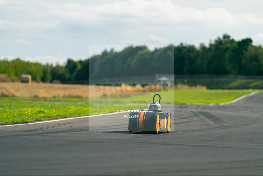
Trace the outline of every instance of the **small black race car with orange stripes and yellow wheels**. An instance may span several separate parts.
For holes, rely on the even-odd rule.
[[[156,95],[160,97],[159,102],[154,101]],[[132,131],[154,131],[156,134],[160,131],[170,132],[171,113],[166,112],[164,114],[162,112],[161,96],[159,94],[155,94],[154,97],[147,110],[140,109],[129,113],[128,130],[130,133]]]

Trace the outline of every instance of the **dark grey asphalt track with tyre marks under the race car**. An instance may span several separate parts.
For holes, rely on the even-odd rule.
[[[1,126],[0,175],[263,175],[262,93],[162,107],[173,132],[130,134],[128,113]]]

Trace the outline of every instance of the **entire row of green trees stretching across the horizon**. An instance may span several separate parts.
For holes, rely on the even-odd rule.
[[[107,77],[154,75],[155,73],[263,75],[263,48],[251,38],[234,40],[228,34],[199,47],[168,45],[149,50],[147,46],[128,46],[117,52],[104,50],[85,60],[68,58],[65,64],[41,64],[16,58],[0,60],[0,73],[20,78],[31,75],[34,81],[50,82]]]

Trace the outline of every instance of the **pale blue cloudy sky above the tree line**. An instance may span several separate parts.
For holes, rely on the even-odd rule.
[[[129,45],[263,45],[262,0],[0,0],[0,59],[64,64]]]

